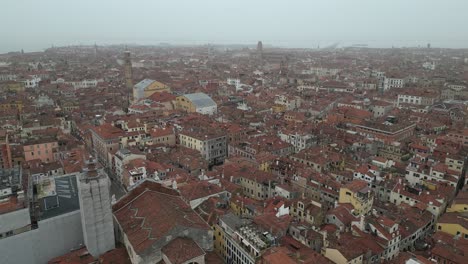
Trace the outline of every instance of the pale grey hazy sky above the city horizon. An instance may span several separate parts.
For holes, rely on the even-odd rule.
[[[54,45],[468,47],[468,0],[1,0],[0,52]]]

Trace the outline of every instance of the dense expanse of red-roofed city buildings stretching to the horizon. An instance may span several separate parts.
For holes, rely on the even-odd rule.
[[[467,50],[0,55],[0,253],[47,225],[69,248],[38,263],[466,263],[467,85]],[[90,156],[101,256],[57,220],[90,206]]]

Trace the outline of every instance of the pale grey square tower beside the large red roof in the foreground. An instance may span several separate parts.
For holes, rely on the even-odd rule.
[[[110,182],[98,169],[95,160],[86,161],[86,168],[79,177],[81,222],[85,245],[91,255],[114,249],[114,225],[110,201]]]

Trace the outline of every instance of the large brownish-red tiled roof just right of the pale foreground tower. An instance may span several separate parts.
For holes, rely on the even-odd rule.
[[[133,189],[112,209],[137,253],[151,247],[177,226],[210,229],[177,191],[151,181]]]

